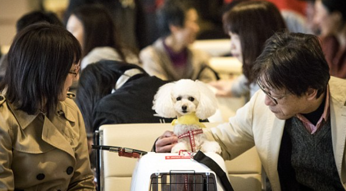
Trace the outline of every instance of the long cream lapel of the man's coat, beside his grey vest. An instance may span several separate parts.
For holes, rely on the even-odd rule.
[[[266,127],[270,130],[270,139],[268,139],[267,166],[270,182],[273,190],[280,190],[279,175],[277,172],[277,163],[281,145],[281,138],[285,127],[285,120],[280,120],[274,114],[268,115]],[[275,184],[278,183],[278,184]]]

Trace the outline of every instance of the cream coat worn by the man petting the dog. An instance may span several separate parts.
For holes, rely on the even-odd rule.
[[[329,81],[330,120],[334,158],[340,181],[346,190],[346,80]],[[280,191],[277,163],[285,120],[280,120],[264,104],[265,94],[257,92],[229,123],[211,131],[207,137],[220,143],[222,157],[232,159],[256,146],[273,191]]]

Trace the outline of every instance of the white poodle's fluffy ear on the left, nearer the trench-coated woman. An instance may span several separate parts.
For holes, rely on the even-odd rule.
[[[153,109],[161,117],[174,118],[176,113],[174,110],[174,102],[172,97],[172,90],[175,86],[174,82],[161,86],[154,96]]]

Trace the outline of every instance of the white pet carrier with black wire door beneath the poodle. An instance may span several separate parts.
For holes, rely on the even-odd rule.
[[[206,153],[223,172],[223,159]],[[225,175],[226,176],[226,175]],[[227,177],[227,176],[226,176]],[[228,178],[226,178],[228,182]],[[133,171],[130,191],[226,191],[210,167],[192,159],[189,153],[154,153],[142,156]]]

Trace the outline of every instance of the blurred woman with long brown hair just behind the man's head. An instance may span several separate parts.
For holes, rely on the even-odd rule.
[[[231,38],[231,54],[243,63],[243,74],[234,80],[221,80],[211,85],[219,96],[253,96],[259,90],[254,62],[264,42],[276,31],[286,29],[277,7],[267,1],[245,1],[223,15],[223,26]]]

